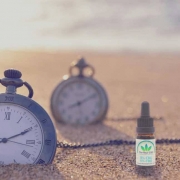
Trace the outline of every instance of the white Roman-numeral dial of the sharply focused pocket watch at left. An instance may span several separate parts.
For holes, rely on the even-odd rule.
[[[0,164],[33,164],[44,136],[37,118],[26,108],[0,103]]]

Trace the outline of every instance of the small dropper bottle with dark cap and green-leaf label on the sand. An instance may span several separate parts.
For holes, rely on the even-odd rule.
[[[156,164],[156,142],[148,102],[141,104],[141,117],[137,119],[136,132],[136,165],[154,166]]]

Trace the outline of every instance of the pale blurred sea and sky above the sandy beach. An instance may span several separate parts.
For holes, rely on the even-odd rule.
[[[180,0],[0,0],[0,49],[180,50]]]

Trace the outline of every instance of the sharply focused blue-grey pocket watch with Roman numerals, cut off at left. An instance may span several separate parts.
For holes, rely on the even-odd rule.
[[[23,82],[21,72],[9,69],[0,80],[6,93],[0,94],[0,165],[47,164],[56,152],[56,133],[46,111],[31,98],[33,89]],[[29,96],[16,94],[25,85]]]

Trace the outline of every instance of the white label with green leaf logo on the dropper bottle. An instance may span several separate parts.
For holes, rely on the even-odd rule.
[[[136,139],[136,165],[154,166],[156,164],[155,139]]]

